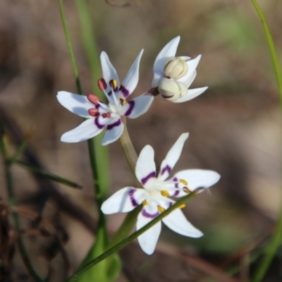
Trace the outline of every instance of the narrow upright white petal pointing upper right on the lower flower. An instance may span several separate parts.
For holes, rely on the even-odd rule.
[[[171,149],[168,151],[168,154],[166,154],[166,158],[161,163],[158,180],[165,180],[166,178],[168,178],[169,173],[171,172],[171,170],[176,164],[176,161],[178,161],[180,157],[184,142],[185,140],[187,140],[188,135],[189,133],[181,134],[176,143],[173,145],[173,147],[171,147]]]

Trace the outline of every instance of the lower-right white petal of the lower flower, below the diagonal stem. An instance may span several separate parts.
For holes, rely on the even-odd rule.
[[[202,237],[203,233],[192,226],[192,224],[185,218],[183,212],[180,209],[175,209],[173,212],[168,214],[163,220],[164,224],[171,228],[176,233],[184,236],[199,238]]]

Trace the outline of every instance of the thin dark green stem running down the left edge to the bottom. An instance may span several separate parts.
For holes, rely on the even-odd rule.
[[[1,123],[1,121],[0,121]],[[11,161],[8,159],[8,155],[6,152],[6,146],[4,143],[4,128],[3,125],[0,124],[0,152],[4,159],[4,169],[5,169],[5,176],[6,176],[6,185],[8,190],[8,202],[10,207],[14,207],[16,205],[16,197],[15,193],[13,192],[13,177],[11,173]],[[18,219],[18,214],[16,212],[12,212],[13,218],[13,227],[15,228],[16,232],[20,232],[20,222]],[[30,258],[28,257],[27,250],[25,249],[25,244],[23,242],[23,238],[18,235],[17,238],[18,249],[20,250],[20,255],[23,259],[25,267],[27,271],[30,273],[32,279],[36,282],[43,282],[44,280],[37,274],[37,271],[32,266]]]

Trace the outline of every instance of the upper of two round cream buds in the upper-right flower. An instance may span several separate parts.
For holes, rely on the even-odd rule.
[[[167,78],[178,80],[188,73],[188,64],[180,57],[169,59],[164,66],[164,75]]]

